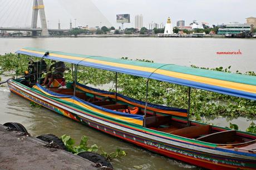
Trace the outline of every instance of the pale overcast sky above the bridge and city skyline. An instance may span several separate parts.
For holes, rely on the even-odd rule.
[[[135,14],[142,14],[144,26],[149,22],[166,22],[171,17],[173,26],[183,19],[185,25],[194,19],[209,24],[229,22],[245,23],[245,18],[256,17],[255,0],[44,0],[47,21],[57,28],[68,28],[70,19],[75,26],[114,26],[116,14],[131,14],[134,27]],[[32,0],[0,0],[0,27],[30,26]],[[18,7],[17,7],[18,6]],[[21,10],[22,9],[22,10]]]

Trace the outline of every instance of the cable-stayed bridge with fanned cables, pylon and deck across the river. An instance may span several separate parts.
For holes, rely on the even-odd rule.
[[[47,2],[47,0],[45,1]],[[70,18],[71,17],[77,18],[79,16],[82,17],[83,15],[87,16],[88,17],[86,18],[87,21],[83,21],[83,23],[85,23],[86,25],[90,25],[91,27],[100,26],[101,23],[106,24],[106,26],[107,24],[111,26],[109,21],[107,21],[106,17],[104,17],[104,15],[99,11],[99,9],[97,9],[96,6],[94,6],[94,4],[90,0],[76,0],[76,1],[77,1],[76,3],[74,3],[73,0],[48,1],[48,7],[51,6],[51,8],[53,8],[58,5],[58,9],[63,8],[62,11],[58,11],[53,14],[52,14],[53,10],[51,11],[49,10],[48,13],[51,13],[51,14],[49,14],[50,17],[48,16],[48,19],[55,17],[55,20],[56,20],[56,16],[60,17],[62,14],[63,15],[65,14],[66,16],[68,16],[67,13],[71,13],[68,16]],[[81,2],[78,2],[78,1],[81,1]],[[86,3],[86,10],[82,9],[81,7],[78,7],[78,6],[82,6],[81,4],[82,2]],[[43,0],[0,0],[0,4],[1,4],[0,31],[27,31],[27,32],[32,32],[32,36],[37,36],[38,33],[41,36],[49,36],[49,32],[66,32],[72,29],[71,21],[69,23],[70,26],[68,29],[61,29],[60,21],[58,23],[58,29],[54,29],[54,28],[50,29],[49,21],[46,19],[45,5]],[[31,13],[31,8],[32,8],[32,19],[30,20],[31,26],[28,26],[28,24],[26,24],[25,26],[21,27],[20,22],[23,21],[24,19],[26,19],[25,23],[29,22],[27,21],[27,18],[29,18],[29,14]],[[78,10],[76,10],[76,8]],[[74,11],[79,11],[80,13],[73,14]],[[92,15],[89,16],[88,13],[86,12]],[[40,20],[38,18],[40,18]],[[97,18],[99,21],[96,21]],[[76,20],[77,19],[75,19],[75,22]],[[80,19],[80,21],[81,20],[82,19]],[[10,24],[12,24],[12,26],[9,26]]]

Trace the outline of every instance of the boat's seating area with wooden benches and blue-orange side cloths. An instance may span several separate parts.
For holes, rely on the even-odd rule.
[[[184,121],[186,119],[186,109],[165,107],[149,103],[146,117],[144,118],[145,102],[137,101],[136,99],[121,94],[116,94],[117,101],[115,101],[115,93],[87,87],[79,83],[77,84],[75,98],[72,96],[73,88],[71,84],[68,88],[46,89],[39,84],[33,88],[40,89],[41,92],[50,96],[73,98],[76,101],[92,106],[95,109],[105,111],[102,112],[102,114],[112,113],[111,116],[113,118],[139,124],[163,133],[192,138],[203,142],[216,143],[219,144],[219,146],[230,148],[248,146],[249,144],[256,143],[255,138],[243,137],[235,130],[219,130],[211,125],[199,123],[191,123],[188,127],[187,122]],[[138,107],[138,111],[136,114],[131,114],[134,107]],[[179,113],[181,116],[178,116]],[[175,117],[177,116],[183,118],[181,119],[183,121],[176,119]]]

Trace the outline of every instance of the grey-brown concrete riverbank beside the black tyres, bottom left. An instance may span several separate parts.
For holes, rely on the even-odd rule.
[[[1,124],[0,136],[1,169],[99,169],[87,159],[46,147],[40,139],[7,131]]]

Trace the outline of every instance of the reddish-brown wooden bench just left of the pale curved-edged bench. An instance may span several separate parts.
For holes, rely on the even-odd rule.
[[[210,125],[201,124],[197,126],[185,127],[182,129],[178,129],[176,131],[170,132],[171,134],[175,134],[177,136],[182,136],[186,138],[195,138],[204,134],[210,133]]]

